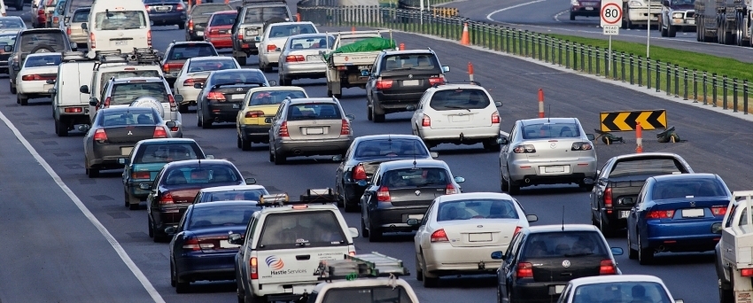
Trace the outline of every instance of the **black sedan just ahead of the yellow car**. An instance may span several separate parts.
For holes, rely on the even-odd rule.
[[[272,85],[276,84],[272,81]],[[267,77],[258,69],[213,71],[206,82],[194,84],[194,88],[201,89],[196,98],[197,126],[211,128],[214,122],[235,123],[248,89],[269,85]]]

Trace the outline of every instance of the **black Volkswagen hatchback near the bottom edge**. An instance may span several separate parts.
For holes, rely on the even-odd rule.
[[[572,279],[622,274],[607,239],[592,225],[545,225],[521,229],[497,269],[497,302],[555,302]]]

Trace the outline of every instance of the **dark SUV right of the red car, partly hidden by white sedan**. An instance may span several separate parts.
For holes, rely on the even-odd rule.
[[[269,23],[291,20],[291,11],[284,0],[244,0],[233,24],[233,57],[245,66],[248,56],[259,54],[264,28]]]

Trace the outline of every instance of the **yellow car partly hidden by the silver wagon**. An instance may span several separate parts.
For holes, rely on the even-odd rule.
[[[236,118],[238,148],[251,151],[251,144],[268,144],[271,120],[287,97],[308,97],[298,86],[259,87],[249,90]]]

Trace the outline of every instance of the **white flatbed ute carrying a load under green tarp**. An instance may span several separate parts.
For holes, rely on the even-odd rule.
[[[327,62],[327,96],[341,97],[343,89],[366,89],[368,73],[383,50],[394,49],[392,39],[384,39],[377,30],[335,34],[334,50],[322,56]],[[345,48],[343,48],[345,47]]]

